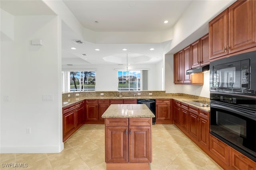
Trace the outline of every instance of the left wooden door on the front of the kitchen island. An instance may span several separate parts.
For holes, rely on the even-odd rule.
[[[105,127],[106,163],[128,163],[128,127]]]

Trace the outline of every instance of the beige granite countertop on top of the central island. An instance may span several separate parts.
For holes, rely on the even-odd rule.
[[[112,104],[102,118],[155,117],[146,104]]]

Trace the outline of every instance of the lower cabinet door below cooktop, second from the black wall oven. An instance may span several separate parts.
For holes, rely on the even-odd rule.
[[[189,127],[188,127],[188,133],[194,137],[195,139],[199,138],[198,135],[198,115],[196,113],[189,111]]]

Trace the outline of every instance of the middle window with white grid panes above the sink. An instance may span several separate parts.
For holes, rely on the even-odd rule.
[[[140,71],[118,71],[118,89],[140,91]]]

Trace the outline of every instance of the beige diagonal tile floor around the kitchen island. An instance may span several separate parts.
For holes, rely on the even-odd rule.
[[[174,125],[152,125],[151,170],[222,170]],[[0,154],[2,163],[27,163],[16,170],[105,170],[104,125],[83,125],[60,153]]]

